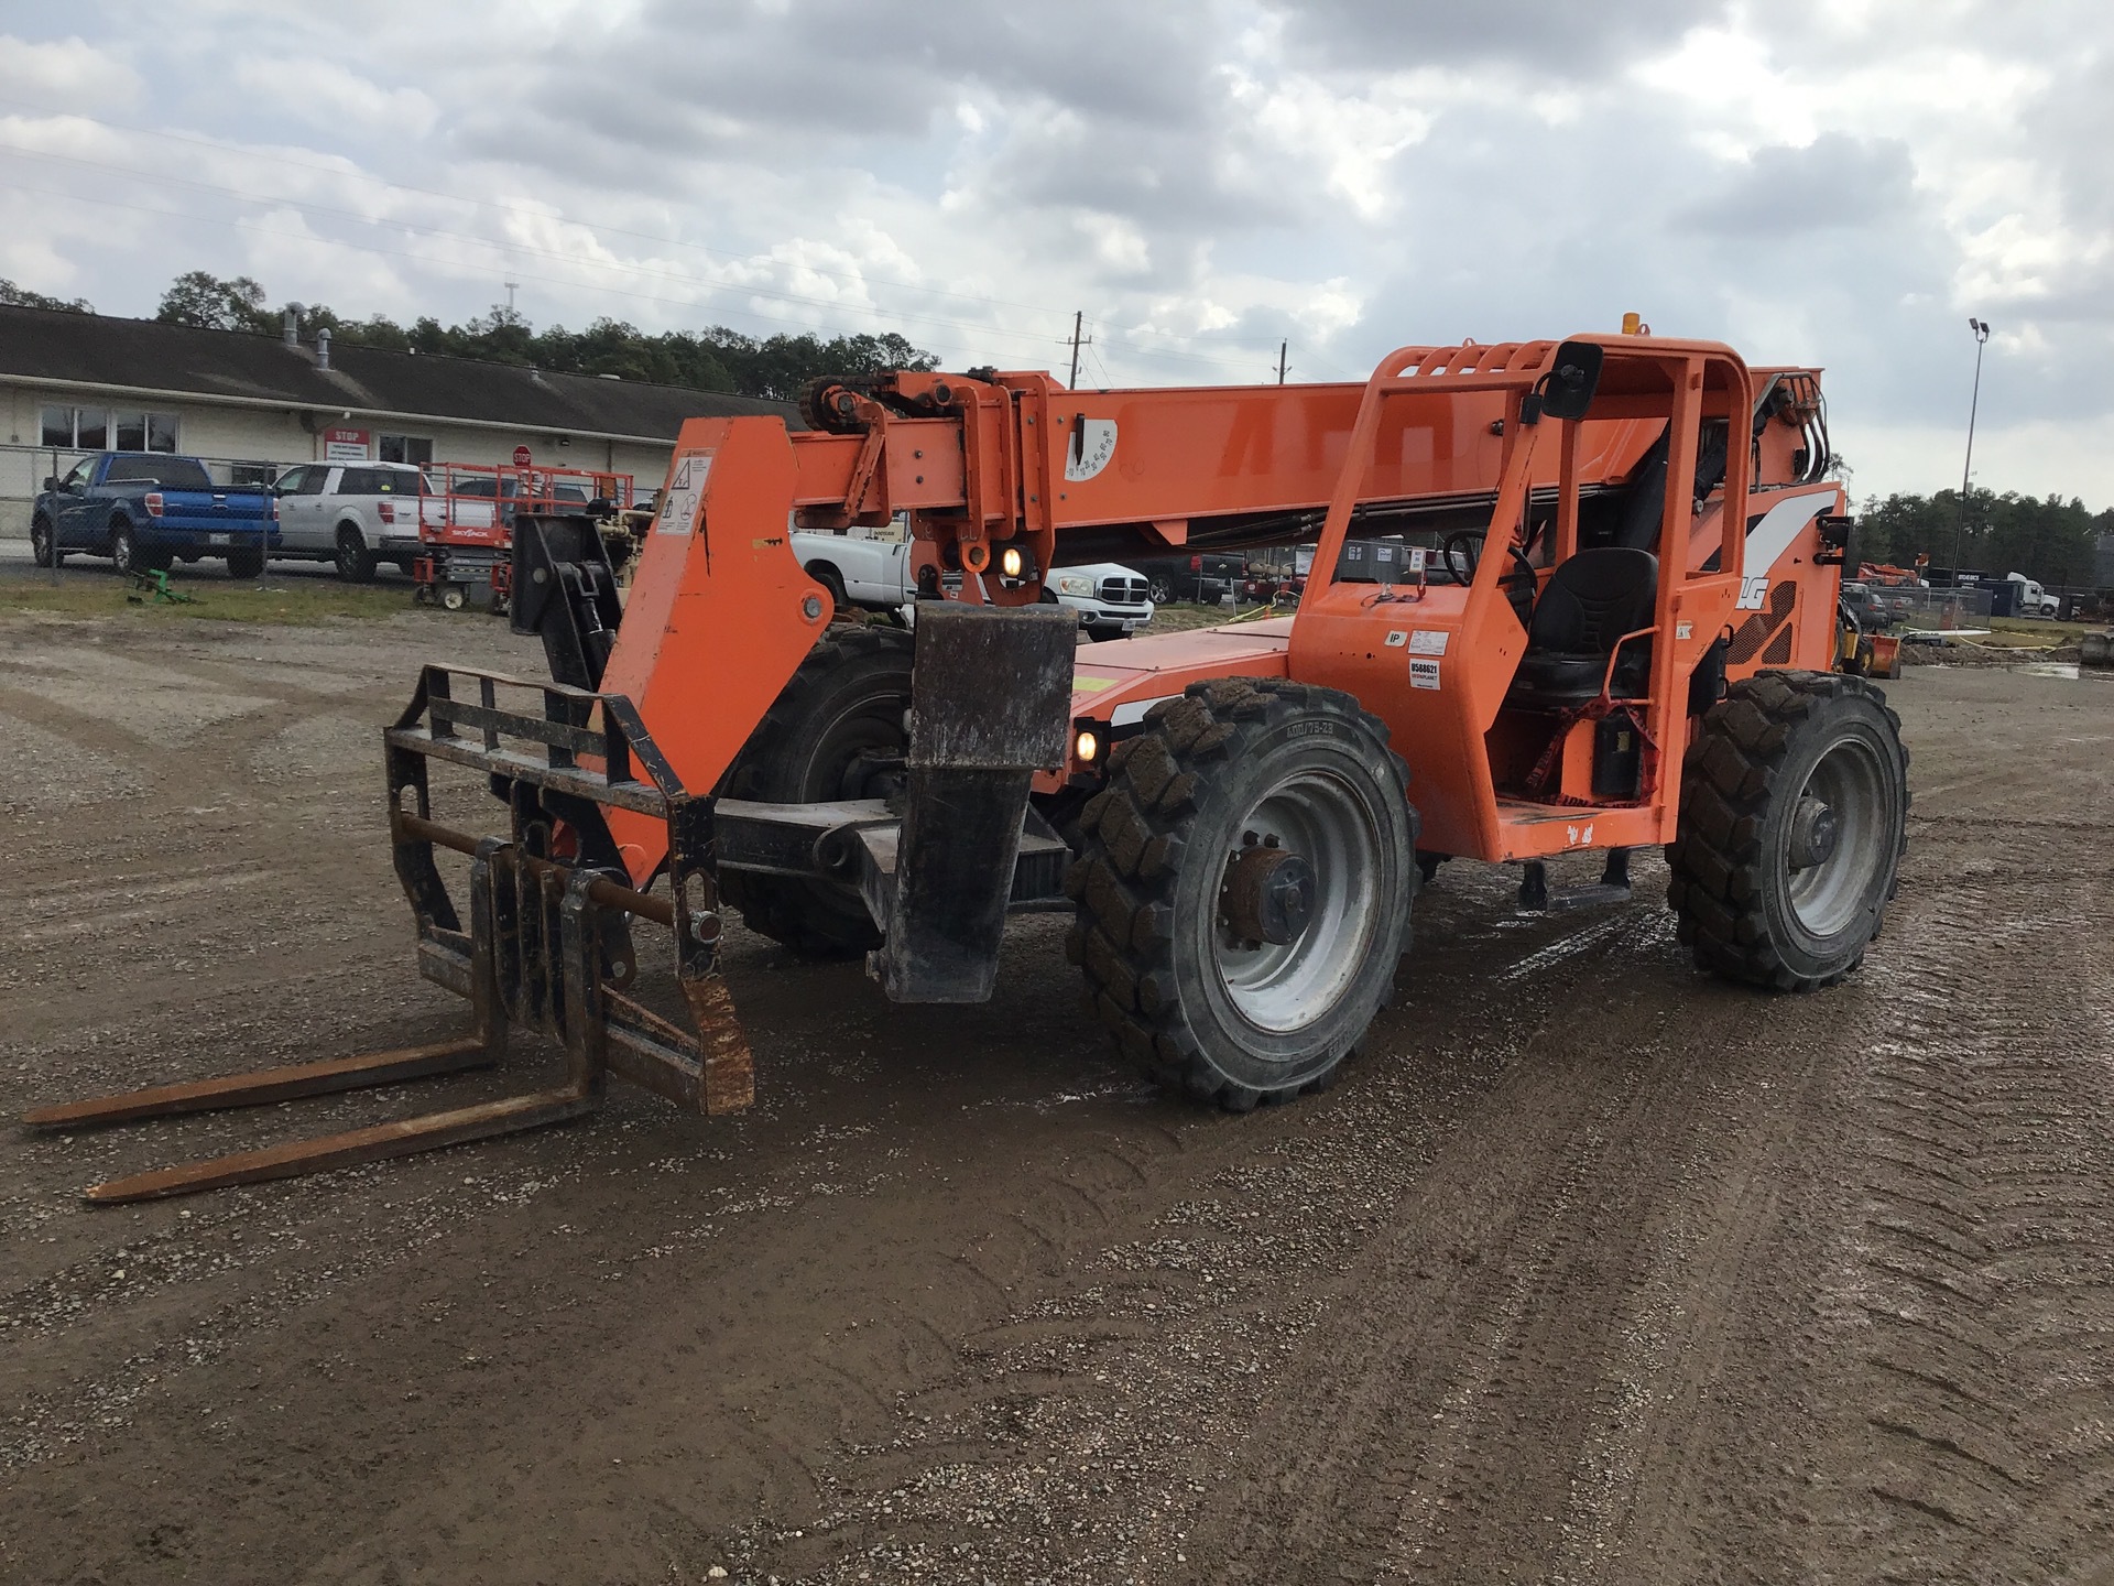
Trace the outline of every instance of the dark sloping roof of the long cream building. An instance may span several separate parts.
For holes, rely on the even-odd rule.
[[[782,402],[681,385],[548,374],[345,340],[332,345],[326,370],[317,368],[313,343],[288,347],[281,336],[0,305],[0,381],[6,379],[634,440],[674,440],[685,419],[793,414]]]

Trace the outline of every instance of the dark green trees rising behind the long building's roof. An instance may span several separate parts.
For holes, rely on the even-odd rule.
[[[68,307],[42,302],[36,307]],[[85,307],[85,305],[82,305]],[[268,307],[264,288],[247,275],[220,279],[186,271],[169,283],[154,317],[165,326],[279,334],[285,307]],[[892,368],[930,370],[939,359],[896,334],[886,336],[744,336],[727,326],[649,334],[622,319],[596,319],[586,330],[535,330],[507,305],[459,326],[421,315],[400,326],[385,315],[351,319],[328,305],[304,305],[300,330],[330,330],[334,345],[381,347],[395,353],[444,353],[522,364],[552,374],[617,374],[626,381],[683,385],[693,391],[791,402],[818,374],[877,374]]]

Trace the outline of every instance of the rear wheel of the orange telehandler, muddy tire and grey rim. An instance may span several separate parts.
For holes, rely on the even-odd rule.
[[[1666,850],[1681,941],[1725,979],[1835,985],[1879,935],[1907,816],[1909,751],[1886,694],[1835,672],[1733,683],[1681,768]]]

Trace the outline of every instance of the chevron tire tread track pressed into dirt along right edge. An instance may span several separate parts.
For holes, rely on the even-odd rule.
[[[2061,863],[2055,844],[2013,829],[1879,973],[1896,1015],[1869,1047],[1848,1277],[1871,1377],[1843,1434],[1871,1578],[2078,1580],[2114,1535],[2114,911],[2084,875],[2059,909],[2004,914],[2013,861]]]

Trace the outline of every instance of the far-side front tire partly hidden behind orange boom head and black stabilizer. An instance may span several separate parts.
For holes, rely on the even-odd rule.
[[[873,755],[901,755],[909,736],[911,637],[896,628],[831,628],[748,734],[721,791],[729,799],[816,804],[886,797]],[[721,871],[721,897],[757,935],[808,958],[848,958],[882,945],[852,886],[799,875]]]

